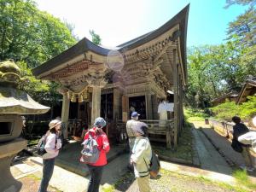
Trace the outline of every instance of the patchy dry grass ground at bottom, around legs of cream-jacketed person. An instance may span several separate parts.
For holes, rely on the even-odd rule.
[[[239,184],[237,186],[232,186],[229,183],[216,182],[208,179],[207,177],[195,177],[180,174],[178,172],[170,172],[166,169],[160,170],[161,177],[157,180],[150,179],[151,190],[166,191],[197,191],[197,189],[226,189],[234,192],[249,192],[253,191],[252,189],[244,189],[243,185]],[[242,176],[243,177],[243,176]],[[103,189],[104,192],[113,192],[113,191],[125,191],[131,186],[131,183],[134,182],[134,176],[131,172],[126,172],[125,175],[119,178],[119,180],[111,185],[108,189]],[[186,184],[188,185],[186,185]],[[190,187],[189,187],[190,186]],[[169,191],[168,190],[168,191]]]

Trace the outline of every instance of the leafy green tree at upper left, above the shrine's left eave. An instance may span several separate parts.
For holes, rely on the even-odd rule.
[[[0,60],[26,61],[37,67],[73,45],[67,26],[32,0],[0,0]]]

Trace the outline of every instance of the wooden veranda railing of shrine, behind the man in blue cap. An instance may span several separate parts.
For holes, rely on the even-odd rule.
[[[166,120],[166,126],[160,126],[160,120],[148,120],[148,119],[140,119],[140,121],[146,123],[148,125],[148,133],[150,134],[149,140],[165,142],[166,148],[171,148],[173,143],[173,130],[174,123],[173,119]],[[126,135],[126,125],[122,121],[118,121],[117,127],[120,130],[121,134]],[[156,137],[157,135],[165,136],[166,138]]]

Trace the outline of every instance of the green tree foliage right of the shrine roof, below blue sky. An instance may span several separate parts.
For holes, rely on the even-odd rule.
[[[245,80],[256,75],[254,52],[253,47],[241,46],[239,40],[190,49],[187,103],[206,108],[213,98],[240,91]]]

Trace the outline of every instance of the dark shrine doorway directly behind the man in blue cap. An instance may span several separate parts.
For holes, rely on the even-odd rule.
[[[140,114],[139,119],[147,119],[145,96],[129,97],[129,108],[130,108],[130,112],[129,112],[130,119],[131,119],[131,113],[133,108],[135,109],[135,111],[137,111],[137,113]]]

